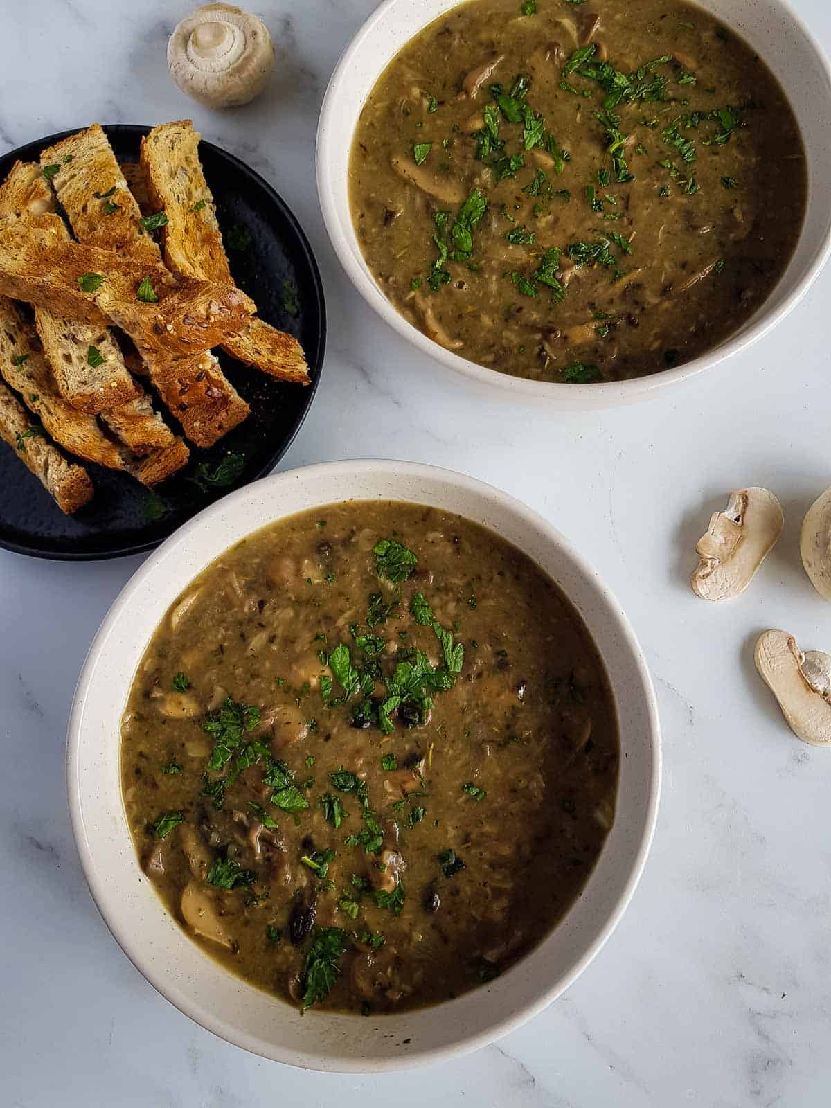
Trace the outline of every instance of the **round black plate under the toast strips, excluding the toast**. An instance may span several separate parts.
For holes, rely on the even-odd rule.
[[[150,127],[104,127],[120,162],[138,161]],[[0,181],[12,164],[37,162],[40,151],[71,131],[40,138],[0,157]],[[95,495],[65,516],[40,481],[0,441],[0,546],[37,557],[89,560],[151,550],[185,520],[230,489],[267,472],[288,450],[315,396],[324,360],[326,310],[320,274],[306,236],[267,182],[225,151],[203,142],[199,155],[228,245],[234,280],[257,302],[266,322],[290,331],[302,345],[311,384],[287,384],[219,351],[223,370],[252,413],[209,450],[191,445],[186,469],[148,492],[125,473],[89,462]],[[234,248],[236,245],[236,248]],[[155,406],[166,416],[164,406]],[[171,425],[181,432],[172,418]],[[228,452],[242,454],[242,471],[227,484],[211,484]],[[219,476],[223,474],[220,473]]]

